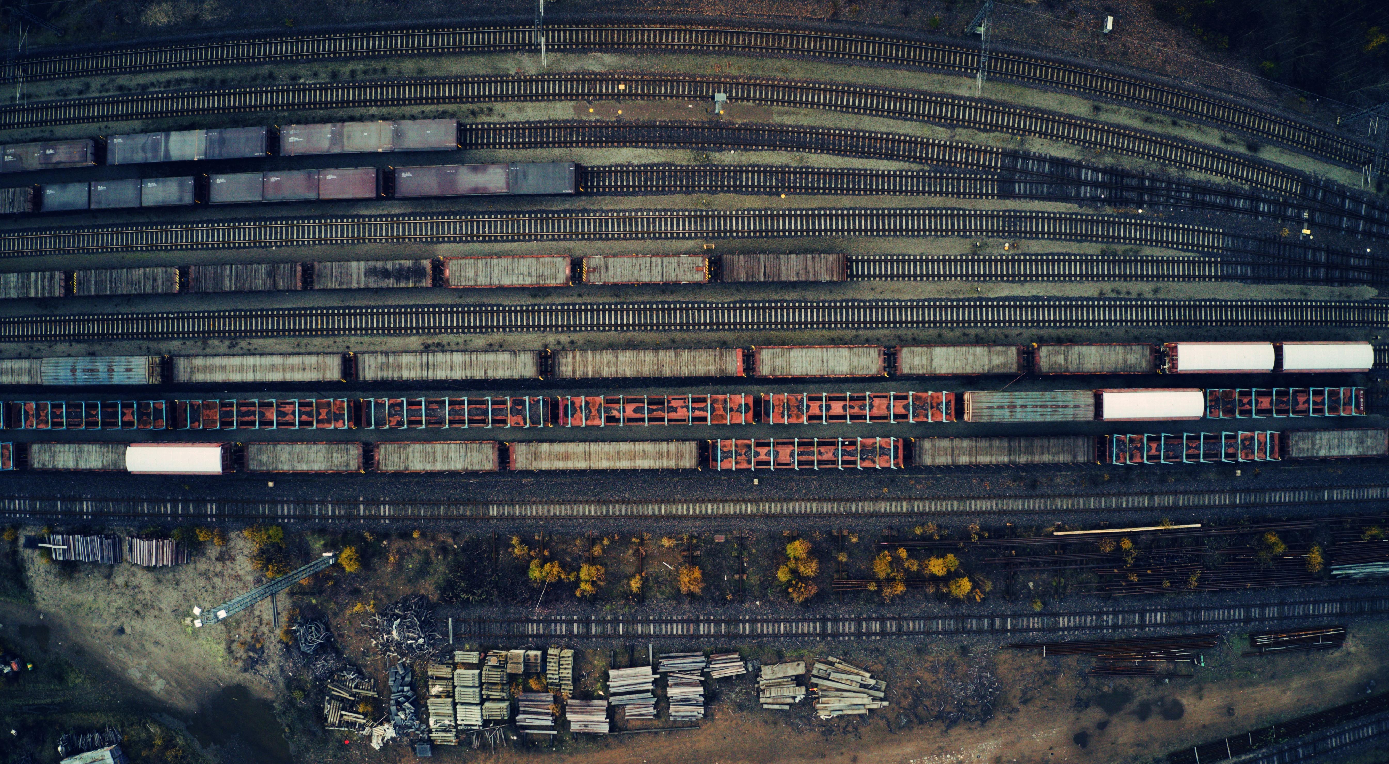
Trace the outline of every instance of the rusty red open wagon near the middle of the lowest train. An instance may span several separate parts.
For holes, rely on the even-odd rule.
[[[779,438],[710,440],[708,465],[725,470],[897,470],[900,438]]]

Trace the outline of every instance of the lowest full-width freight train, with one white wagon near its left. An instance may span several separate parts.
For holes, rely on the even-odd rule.
[[[908,458],[910,453],[910,458]],[[901,470],[1024,464],[1213,464],[1389,456],[1389,429],[1020,438],[768,438],[633,442],[0,443],[0,471],[526,472]]]

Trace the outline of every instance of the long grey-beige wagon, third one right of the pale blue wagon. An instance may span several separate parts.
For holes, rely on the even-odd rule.
[[[743,350],[557,350],[554,375],[560,379],[743,376]]]

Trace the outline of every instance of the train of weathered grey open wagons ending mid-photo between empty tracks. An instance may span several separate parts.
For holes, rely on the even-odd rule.
[[[781,279],[839,282],[847,279],[846,261],[843,254],[729,254],[718,260],[692,254],[600,254],[576,260],[567,254],[540,254],[21,271],[0,274],[0,299],[574,283],[746,283],[758,274],[772,274]],[[788,267],[754,269],[747,267],[749,263]]]

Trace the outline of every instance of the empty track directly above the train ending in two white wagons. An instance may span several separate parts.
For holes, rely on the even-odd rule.
[[[768,300],[294,307],[0,318],[0,342],[928,328],[1389,328],[1350,300]]]

